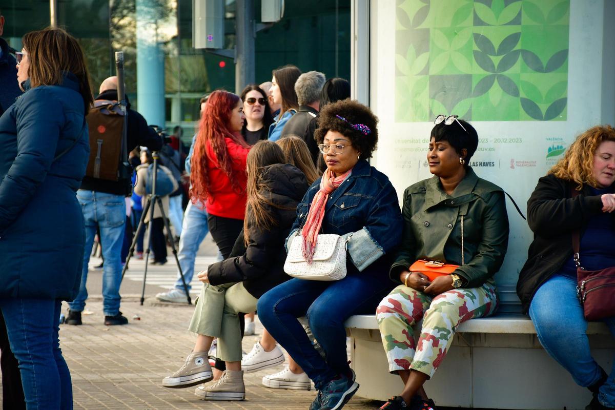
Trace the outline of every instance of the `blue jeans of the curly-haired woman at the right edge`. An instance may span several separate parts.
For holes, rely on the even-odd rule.
[[[544,350],[571,374],[576,384],[589,387],[600,380],[602,372],[589,349],[587,321],[576,297],[576,286],[576,277],[550,277],[534,294],[530,317]],[[615,336],[615,317],[605,323]],[[600,403],[611,408],[615,407],[615,361],[613,365],[598,394]]]

